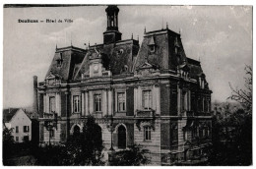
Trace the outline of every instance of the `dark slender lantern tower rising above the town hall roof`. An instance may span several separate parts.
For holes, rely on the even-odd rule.
[[[121,40],[122,33],[118,30],[118,12],[116,5],[109,5],[106,9],[107,28],[103,32],[104,44],[114,43]]]

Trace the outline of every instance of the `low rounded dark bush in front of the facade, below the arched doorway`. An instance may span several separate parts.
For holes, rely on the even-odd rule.
[[[131,145],[129,149],[113,152],[109,164],[112,166],[140,166],[150,163],[148,149],[142,149],[141,145]]]

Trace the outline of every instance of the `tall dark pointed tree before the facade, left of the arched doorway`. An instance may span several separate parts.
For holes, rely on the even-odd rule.
[[[66,154],[64,165],[103,165],[102,139],[100,127],[93,116],[87,117],[83,133],[73,135],[65,144]]]

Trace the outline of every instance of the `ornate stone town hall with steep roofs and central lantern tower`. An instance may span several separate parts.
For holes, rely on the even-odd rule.
[[[152,165],[201,159],[211,146],[211,93],[199,61],[186,56],[180,33],[144,32],[122,39],[117,6],[105,9],[103,42],[55,50],[45,80],[33,78],[41,144],[65,142],[96,118],[106,150],[134,143]]]

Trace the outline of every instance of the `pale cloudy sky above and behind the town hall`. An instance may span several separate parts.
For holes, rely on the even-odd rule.
[[[57,47],[102,43],[106,6],[4,9],[3,107],[32,105],[32,77],[42,82]],[[212,100],[225,101],[229,84],[242,87],[252,65],[251,6],[118,6],[122,39],[168,28],[181,33],[186,56],[200,60]],[[62,20],[19,23],[18,20]],[[65,23],[71,19],[72,23]]]

